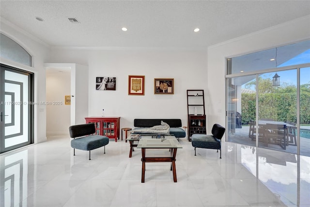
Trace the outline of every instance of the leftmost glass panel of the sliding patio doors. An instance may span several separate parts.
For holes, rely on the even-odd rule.
[[[256,146],[256,75],[227,81],[228,141]]]

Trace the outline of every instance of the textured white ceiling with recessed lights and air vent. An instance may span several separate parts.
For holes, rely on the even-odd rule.
[[[309,14],[310,0],[0,0],[1,18],[60,47],[202,48]]]

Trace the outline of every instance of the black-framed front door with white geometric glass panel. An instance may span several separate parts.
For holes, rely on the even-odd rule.
[[[33,141],[33,74],[1,65],[0,153]]]

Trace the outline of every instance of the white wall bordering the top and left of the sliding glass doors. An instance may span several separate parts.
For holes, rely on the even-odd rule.
[[[208,48],[208,125],[225,124],[226,58],[310,39],[310,16],[295,19]]]

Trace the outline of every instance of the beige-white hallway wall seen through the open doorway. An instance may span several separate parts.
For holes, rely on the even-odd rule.
[[[64,96],[71,95],[70,70],[49,70],[46,85],[47,102],[55,103],[47,105],[47,135],[69,134],[71,105],[64,103]]]

